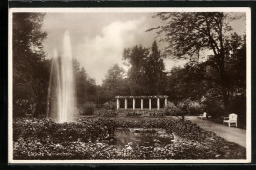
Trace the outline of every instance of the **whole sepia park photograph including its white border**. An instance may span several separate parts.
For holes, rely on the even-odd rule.
[[[10,8],[9,163],[250,163],[250,8]]]

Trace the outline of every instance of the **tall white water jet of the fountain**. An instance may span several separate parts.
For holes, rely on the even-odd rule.
[[[63,53],[54,50],[48,90],[47,115],[59,123],[74,121],[76,115],[73,58],[69,32],[63,38]]]

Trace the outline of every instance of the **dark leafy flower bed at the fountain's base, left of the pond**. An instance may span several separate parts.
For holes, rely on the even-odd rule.
[[[96,142],[114,132],[113,121],[80,119],[78,122],[55,123],[50,119],[18,119],[13,124],[13,140],[36,142]]]

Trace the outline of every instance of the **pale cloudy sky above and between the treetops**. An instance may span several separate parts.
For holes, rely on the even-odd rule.
[[[156,38],[149,28],[158,26],[160,20],[152,18],[154,13],[47,13],[43,29],[48,36],[44,46],[46,55],[53,56],[54,49],[61,55],[63,35],[69,31],[72,55],[83,66],[88,75],[100,85],[107,71],[116,63],[127,70],[122,60],[125,48],[135,45],[150,47]],[[245,31],[245,22],[232,23],[238,34]],[[163,48],[163,43],[158,43]],[[186,61],[164,61],[166,70],[182,66]]]

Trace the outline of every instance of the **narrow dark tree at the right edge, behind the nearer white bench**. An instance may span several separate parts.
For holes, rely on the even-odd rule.
[[[231,96],[228,111],[237,113],[238,125],[246,128],[246,38],[234,33],[228,44],[232,51],[226,58]]]

